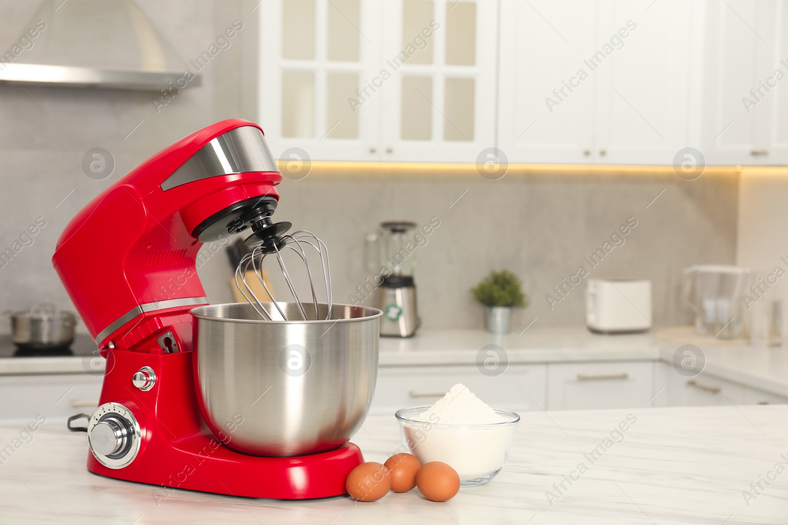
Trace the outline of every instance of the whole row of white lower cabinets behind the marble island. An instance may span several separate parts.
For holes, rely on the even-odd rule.
[[[25,425],[42,414],[46,424],[95,410],[102,376],[89,374],[0,376],[0,426]],[[628,409],[664,406],[786,404],[788,397],[713,375],[686,377],[654,361],[511,364],[485,375],[472,364],[381,367],[370,415],[432,405],[456,383],[496,409]],[[649,402],[651,401],[651,402]],[[81,424],[81,423],[80,423]]]

